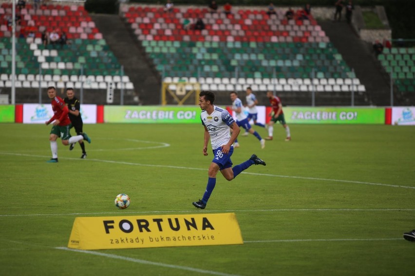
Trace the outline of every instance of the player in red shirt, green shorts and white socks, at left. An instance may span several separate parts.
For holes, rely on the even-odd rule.
[[[91,143],[91,139],[83,133],[82,135],[71,137],[69,130],[71,129],[71,120],[69,120],[69,109],[68,106],[65,105],[65,102],[62,98],[56,95],[56,89],[54,86],[48,87],[48,96],[49,99],[52,101],[52,109],[53,109],[53,117],[46,121],[46,125],[53,122],[53,127],[49,136],[49,141],[51,142],[51,151],[52,151],[52,158],[48,160],[48,163],[57,163],[57,138],[60,137],[62,140],[62,144],[65,146],[76,143],[76,142],[83,142],[83,140],[87,140],[88,143]]]

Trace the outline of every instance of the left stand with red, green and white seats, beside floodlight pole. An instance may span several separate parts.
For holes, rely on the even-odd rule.
[[[11,27],[7,25],[11,13],[11,3],[1,3],[0,87],[11,87],[12,42]],[[107,89],[113,83],[117,88],[133,89],[83,6],[49,4],[35,10],[27,3],[20,16],[16,26],[17,88]],[[44,45],[41,33],[55,30],[66,33],[68,43]],[[29,33],[34,37],[27,37]]]

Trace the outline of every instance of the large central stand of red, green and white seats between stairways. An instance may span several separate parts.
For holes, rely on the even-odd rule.
[[[329,38],[310,17],[287,20],[285,11],[124,6],[122,16],[167,80],[192,78],[202,89],[256,91],[365,91]],[[202,31],[183,30],[184,18],[202,17]],[[311,81],[313,80],[313,81]]]

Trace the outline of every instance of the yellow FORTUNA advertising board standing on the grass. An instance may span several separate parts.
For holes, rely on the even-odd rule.
[[[243,244],[235,213],[77,217],[68,247],[119,249]]]

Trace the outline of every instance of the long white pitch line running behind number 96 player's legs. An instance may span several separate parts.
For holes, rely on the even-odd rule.
[[[17,155],[17,156],[42,157],[42,158],[49,158],[50,157],[50,156],[45,156],[45,155],[28,155],[28,154],[5,153],[5,152],[0,153],[0,154]],[[123,162],[123,161],[113,161],[113,160],[102,160],[102,159],[79,159],[79,158],[72,158],[72,157],[60,157],[60,158],[61,159],[69,159],[69,160],[77,160],[77,161],[81,161],[81,162],[85,162],[85,161],[96,161],[96,162],[113,163],[113,164],[124,164],[124,165],[132,165],[132,166],[145,166],[145,167],[159,167],[159,168],[170,168],[170,169],[185,169],[185,170],[206,171],[206,168],[205,169],[200,169],[200,168],[180,167],[180,166],[170,166],[170,165],[151,165],[151,164],[141,164],[141,163],[132,163],[132,162]],[[342,183],[354,183],[354,184],[365,184],[365,185],[377,185],[377,186],[394,187],[394,188],[405,188],[405,189],[414,189],[415,190],[415,187],[410,187],[410,186],[390,185],[390,184],[372,183],[372,182],[363,182],[363,181],[353,181],[353,180],[340,180],[340,179],[328,179],[328,178],[304,177],[304,176],[289,176],[289,175],[278,175],[278,174],[269,174],[269,173],[247,173],[247,172],[243,172],[243,173],[244,174],[251,174],[251,175],[260,175],[260,176],[283,177],[283,178],[297,178],[297,179],[318,180],[318,181],[331,181],[331,182],[342,182]]]

